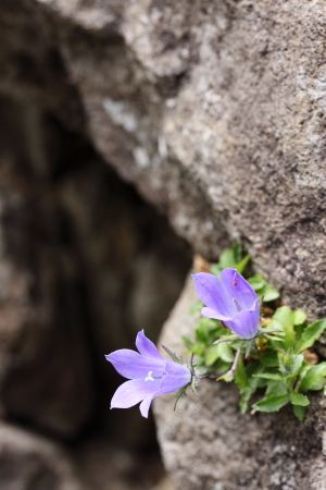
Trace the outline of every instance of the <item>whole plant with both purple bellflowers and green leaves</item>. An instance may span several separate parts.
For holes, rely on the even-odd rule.
[[[189,314],[202,316],[195,340],[183,339],[188,364],[163,346],[172,358],[165,359],[143,331],[136,339],[139,353],[120,350],[105,356],[128,379],[116,390],[111,408],[141,402],[140,413],[148,417],[155,396],[177,391],[177,403],[188,387],[196,393],[198,382],[209,378],[236,382],[242,413],[258,390],[264,390],[263,399],[251,405],[253,413],[277,412],[290,403],[299,420],[304,419],[309,392],[324,389],[326,395],[326,363],[314,352],[326,319],[308,324],[304,311],[283,305],[261,275],[246,280],[241,273],[249,260],[235,244],[218,264],[206,264],[210,272],[193,275],[200,299]]]

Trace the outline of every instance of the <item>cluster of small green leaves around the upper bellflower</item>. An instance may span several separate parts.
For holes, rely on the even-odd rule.
[[[218,264],[212,266],[212,273],[220,277],[225,268],[243,272],[249,262],[249,256],[242,257],[239,244],[225,250]],[[197,368],[209,375],[216,375],[218,381],[235,381],[240,390],[240,409],[277,412],[283,406],[291,404],[299,420],[305,417],[310,404],[309,392],[324,390],[326,379],[326,362],[319,362],[312,353],[314,343],[326,330],[326,319],[308,324],[306,315],[302,310],[292,311],[288,306],[279,306],[279,293],[261,275],[253,275],[248,282],[259,296],[264,296],[268,303],[271,317],[263,319],[265,331],[280,331],[281,334],[266,334],[258,339],[255,348],[246,357],[241,353],[235,373],[230,375],[235,355],[241,351],[239,340],[227,330],[221,321],[198,315],[202,308],[201,302],[196,302],[190,309],[191,315],[198,315],[195,340],[184,338],[188,353],[196,356]],[[266,305],[265,305],[266,306]],[[221,343],[213,344],[217,340]],[[229,342],[224,342],[229,340]],[[309,350],[309,351],[308,351]],[[224,376],[223,376],[224,373]],[[260,396],[263,397],[252,404]]]

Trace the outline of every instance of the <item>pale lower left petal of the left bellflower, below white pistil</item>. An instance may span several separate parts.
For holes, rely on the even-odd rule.
[[[129,408],[148,396],[155,396],[160,391],[161,380],[143,381],[142,379],[133,379],[123,383],[113,395],[111,408]]]

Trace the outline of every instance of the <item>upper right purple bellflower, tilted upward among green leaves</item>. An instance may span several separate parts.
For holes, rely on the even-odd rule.
[[[224,269],[221,281],[213,274],[192,275],[198,296],[205,305],[201,314],[223,321],[243,340],[259,332],[260,301],[251,285],[235,269]]]

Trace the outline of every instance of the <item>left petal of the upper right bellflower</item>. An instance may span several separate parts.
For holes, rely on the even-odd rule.
[[[192,278],[197,294],[205,306],[225,317],[234,316],[231,297],[225,293],[223,284],[215,275],[200,272]]]

